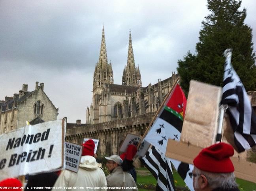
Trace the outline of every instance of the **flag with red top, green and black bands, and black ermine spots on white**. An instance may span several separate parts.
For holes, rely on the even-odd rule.
[[[166,153],[168,139],[180,140],[186,97],[177,84],[144,140]]]

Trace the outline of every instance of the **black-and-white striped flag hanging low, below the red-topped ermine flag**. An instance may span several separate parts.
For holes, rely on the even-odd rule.
[[[156,178],[157,191],[174,191],[173,173],[171,170],[171,162],[163,155],[163,153],[152,146],[149,148],[144,157],[140,158],[143,165]]]

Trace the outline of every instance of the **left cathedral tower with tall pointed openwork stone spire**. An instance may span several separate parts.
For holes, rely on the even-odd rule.
[[[99,61],[96,63],[94,75],[93,75],[93,103],[92,110],[90,112],[91,119],[93,120],[91,123],[96,124],[99,122],[99,106],[100,106],[100,97],[102,94],[102,90],[104,89],[104,84],[113,84],[113,70],[111,63],[107,63],[107,50],[105,43],[105,32],[104,26],[102,28],[102,41],[100,46],[100,57]],[[88,112],[87,112],[88,116]]]

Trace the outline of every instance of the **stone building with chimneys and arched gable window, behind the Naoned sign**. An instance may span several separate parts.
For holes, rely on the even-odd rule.
[[[5,97],[0,101],[0,134],[24,127],[26,121],[43,120],[45,122],[56,120],[58,108],[43,91],[44,83],[38,85],[35,90],[28,91],[28,85],[23,84],[19,94],[13,97]]]

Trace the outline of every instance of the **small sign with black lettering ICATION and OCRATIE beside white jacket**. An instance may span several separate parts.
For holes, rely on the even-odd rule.
[[[83,146],[72,142],[65,142],[66,169],[78,172]]]

